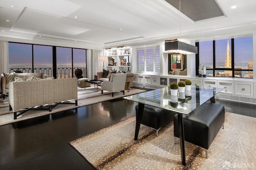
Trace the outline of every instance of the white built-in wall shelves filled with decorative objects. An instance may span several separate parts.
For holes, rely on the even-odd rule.
[[[131,72],[131,48],[111,48],[105,50],[108,56],[107,69]]]

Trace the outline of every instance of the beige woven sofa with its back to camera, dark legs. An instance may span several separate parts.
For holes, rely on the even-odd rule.
[[[17,118],[17,111],[20,109],[52,105],[72,99],[77,105],[77,78],[12,81],[9,83],[9,104],[10,111],[14,112],[14,119]],[[49,111],[51,110],[49,109]]]

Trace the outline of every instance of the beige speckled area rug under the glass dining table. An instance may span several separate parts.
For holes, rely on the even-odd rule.
[[[78,138],[73,146],[96,169],[255,169],[256,118],[226,113],[208,150],[185,142],[186,166],[181,164],[180,144],[174,144],[173,121],[159,135],[141,125],[134,141],[135,117]]]

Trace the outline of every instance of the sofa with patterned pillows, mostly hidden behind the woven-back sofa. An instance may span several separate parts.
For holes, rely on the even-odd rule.
[[[8,74],[8,73],[6,73]],[[13,75],[13,73],[11,73]],[[18,73],[18,74],[24,74],[24,73]],[[47,74],[45,73],[27,73],[28,77],[32,77],[32,76],[35,76],[37,78],[40,78],[40,79],[45,79],[48,77]],[[12,80],[14,81],[14,79]],[[5,98],[5,95],[6,93],[9,92],[9,82],[10,82],[10,79],[6,79],[6,77],[4,77],[4,74],[1,75],[1,93],[3,95],[3,98]]]

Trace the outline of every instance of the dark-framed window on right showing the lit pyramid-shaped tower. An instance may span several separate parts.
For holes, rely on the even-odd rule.
[[[206,75],[253,78],[251,36],[199,42],[198,47],[198,63],[206,66]]]

